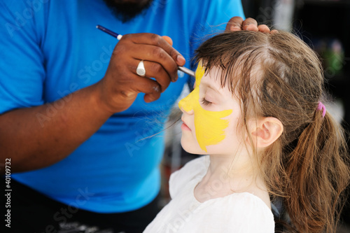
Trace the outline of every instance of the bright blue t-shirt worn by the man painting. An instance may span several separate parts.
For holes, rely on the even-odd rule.
[[[210,26],[244,16],[239,0],[154,0],[127,23],[118,21],[102,0],[1,0],[0,8],[0,113],[50,103],[103,78],[118,41],[97,30],[97,24],[119,34],[170,36],[190,68],[202,36],[213,32]],[[161,131],[187,82],[179,71],[179,80],[157,101],[146,104],[139,94],[130,108],[111,116],[64,160],[12,177],[81,209],[139,209],[160,190]],[[37,116],[43,127],[59,108],[52,105],[46,115]]]

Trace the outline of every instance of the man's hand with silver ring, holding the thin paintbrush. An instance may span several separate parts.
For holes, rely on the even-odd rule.
[[[149,33],[126,34],[120,39],[104,78],[97,84],[101,90],[99,99],[107,111],[126,110],[140,92],[145,93],[146,102],[155,101],[171,81],[177,80],[178,66],[186,60],[170,42],[169,38]],[[144,77],[136,73],[141,60],[146,70]]]

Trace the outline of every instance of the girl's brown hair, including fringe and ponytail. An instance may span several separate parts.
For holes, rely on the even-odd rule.
[[[349,163],[342,128],[316,110],[323,70],[315,52],[288,32],[236,31],[209,38],[195,59],[206,72],[223,69],[218,78],[239,97],[242,125],[249,118],[282,122],[283,133],[258,162],[272,200],[282,199],[290,216],[283,232],[335,232]]]

